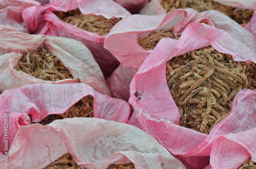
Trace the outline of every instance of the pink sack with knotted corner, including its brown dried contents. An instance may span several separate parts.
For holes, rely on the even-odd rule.
[[[105,78],[119,62],[104,49],[111,28],[131,13],[112,0],[50,1],[41,7],[27,8],[23,19],[34,34],[61,36],[82,42],[92,52]]]

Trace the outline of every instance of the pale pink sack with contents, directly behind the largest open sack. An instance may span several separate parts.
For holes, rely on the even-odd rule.
[[[128,100],[132,78],[147,56],[154,51],[156,44],[162,38],[177,41],[191,22],[203,22],[225,30],[256,53],[254,36],[218,11],[198,13],[193,9],[177,9],[163,16],[132,15],[114,26],[104,42],[104,47],[121,62],[107,80],[112,95]]]

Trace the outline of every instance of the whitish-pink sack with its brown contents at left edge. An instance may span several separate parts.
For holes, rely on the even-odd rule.
[[[35,83],[86,83],[110,95],[92,53],[74,39],[0,27],[0,91]]]

